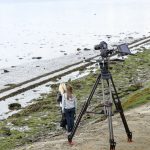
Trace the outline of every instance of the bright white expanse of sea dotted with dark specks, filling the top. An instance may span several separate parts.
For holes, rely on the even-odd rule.
[[[0,0],[0,69],[150,34],[149,0]]]

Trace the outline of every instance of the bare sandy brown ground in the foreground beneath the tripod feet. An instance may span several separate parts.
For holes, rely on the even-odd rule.
[[[150,103],[125,113],[133,142],[127,142],[127,136],[119,115],[113,117],[116,150],[150,150]],[[74,145],[67,143],[64,133],[51,139],[44,139],[17,150],[109,150],[107,120],[90,123],[78,129]]]

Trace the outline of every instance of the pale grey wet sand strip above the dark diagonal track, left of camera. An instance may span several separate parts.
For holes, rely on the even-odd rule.
[[[18,84],[37,76],[59,70],[63,67],[82,62],[85,59],[96,55],[99,55],[98,51],[82,51],[77,52],[76,54],[65,55],[56,59],[38,60],[24,65],[16,66],[14,68],[5,68],[5,70],[9,71],[7,73],[4,73],[4,70],[1,69],[0,78],[2,80],[0,81],[0,89],[6,88],[7,84]]]

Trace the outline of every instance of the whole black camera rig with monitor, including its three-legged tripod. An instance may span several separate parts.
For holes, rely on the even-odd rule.
[[[102,57],[102,60],[101,59],[98,60],[99,65],[100,65],[100,73],[92,87],[92,90],[89,94],[88,99],[84,103],[84,105],[77,117],[77,120],[74,124],[73,130],[68,135],[68,142],[70,144],[72,143],[72,138],[75,135],[75,132],[80,124],[80,121],[81,121],[83,115],[86,113],[86,110],[90,104],[90,101],[92,100],[92,97],[93,97],[98,85],[101,84],[102,85],[102,94],[103,94],[102,98],[103,98],[103,102],[104,102],[104,105],[103,105],[104,114],[107,116],[107,120],[108,120],[110,150],[115,150],[116,142],[114,141],[113,124],[112,124],[112,116],[113,116],[112,103],[114,103],[116,110],[120,113],[120,117],[122,119],[125,131],[127,134],[128,142],[132,141],[132,132],[129,130],[119,95],[117,93],[111,72],[109,71],[109,67],[108,67],[109,59],[108,58],[111,56],[114,56],[118,53],[120,54],[120,56],[131,55],[131,52],[130,52],[127,44],[118,45],[116,49],[108,49],[108,45],[104,41],[102,41],[102,42],[100,42],[100,44],[96,45],[94,47],[94,49],[100,50],[100,56]],[[107,87],[107,90],[109,91],[109,94],[108,94],[109,99],[108,100],[107,100],[107,98],[105,98],[106,95],[105,95],[104,81],[106,81],[106,87]]]

